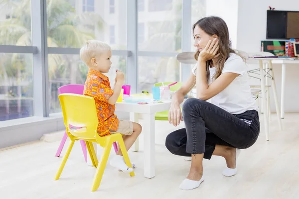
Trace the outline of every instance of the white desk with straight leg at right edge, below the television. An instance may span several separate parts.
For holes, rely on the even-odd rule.
[[[271,60],[272,64],[282,65],[282,95],[281,95],[281,118],[285,117],[285,88],[286,88],[286,66],[287,64],[298,64],[299,60],[274,58]]]

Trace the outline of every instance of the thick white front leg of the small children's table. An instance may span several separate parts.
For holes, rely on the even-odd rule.
[[[154,114],[143,114],[145,121],[144,124],[144,157],[145,157],[145,171],[144,176],[146,178],[153,178],[155,157],[154,157]]]

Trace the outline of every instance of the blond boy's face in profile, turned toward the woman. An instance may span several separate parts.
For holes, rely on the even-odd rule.
[[[101,73],[108,73],[111,68],[111,50],[101,53],[91,59],[94,69]]]

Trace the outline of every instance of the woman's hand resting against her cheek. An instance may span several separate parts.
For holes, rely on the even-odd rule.
[[[215,57],[218,57],[219,54],[216,53],[219,50],[218,39],[214,38],[213,40],[209,40],[206,47],[199,53],[197,61],[208,61]]]

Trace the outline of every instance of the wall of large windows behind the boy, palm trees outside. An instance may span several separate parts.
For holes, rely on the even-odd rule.
[[[187,16],[191,14],[192,23],[205,16],[205,1],[192,0],[192,6],[184,12]],[[66,84],[84,84],[86,80],[88,68],[80,60],[79,49],[90,39],[104,41],[112,47],[112,68],[106,74],[112,87],[116,69],[124,71],[126,79],[130,77],[128,84],[134,89],[137,87],[137,92],[150,92],[153,84],[158,82],[179,81],[179,63],[175,56],[181,52],[182,8],[186,9],[182,5],[187,1],[36,2],[46,2],[46,11],[39,4],[31,4],[31,0],[0,0],[0,121],[60,112],[58,88]],[[128,13],[130,29],[127,28],[127,7],[132,12]],[[134,10],[135,7],[138,9]],[[39,16],[39,13],[45,15]],[[138,21],[131,23],[135,14],[138,14]],[[40,24],[44,16],[47,37],[39,35],[44,28]],[[134,33],[135,24],[138,24],[138,48],[132,45],[135,38],[128,37],[131,41],[130,49],[127,49],[127,34]],[[35,31],[33,38],[32,28]],[[186,36],[193,43],[191,35]],[[43,41],[48,48],[45,54],[40,50],[44,47]],[[139,55],[138,68],[135,53]],[[46,72],[41,70],[44,64],[48,66]],[[137,69],[137,76],[132,76],[136,71],[127,71],[127,67]],[[33,91],[37,93],[33,95]]]

